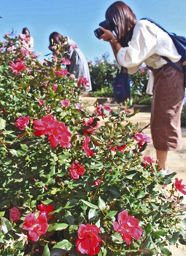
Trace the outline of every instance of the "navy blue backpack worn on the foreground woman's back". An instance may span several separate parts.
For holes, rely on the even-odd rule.
[[[184,74],[184,79],[186,81],[186,39],[184,38],[184,36],[177,36],[174,33],[169,33],[167,32],[162,26],[160,26],[158,23],[155,23],[154,20],[149,19],[149,18],[143,18],[145,20],[149,20],[151,23],[154,23],[155,25],[157,25],[161,30],[163,30],[164,32],[166,32],[170,38],[172,39],[177,52],[179,53],[179,55],[181,55],[181,62],[182,62],[182,69],[178,68],[176,66],[176,64],[174,62],[172,62],[170,59],[168,59],[165,56],[162,56],[164,60],[168,61],[168,63],[170,63],[174,68],[176,68],[177,70],[183,72]]]

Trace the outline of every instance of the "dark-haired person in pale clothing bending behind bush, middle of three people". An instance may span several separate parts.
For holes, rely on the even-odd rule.
[[[58,55],[60,53],[60,47],[58,46],[61,46],[61,50],[65,49],[67,52],[67,57],[71,62],[68,68],[69,73],[74,74],[75,72],[75,77],[77,79],[79,79],[79,77],[85,77],[88,80],[88,88],[86,88],[86,90],[92,90],[90,72],[86,57],[73,42],[73,40],[62,36],[58,32],[53,32],[49,36],[49,43],[50,45],[48,48],[53,52],[54,55]]]

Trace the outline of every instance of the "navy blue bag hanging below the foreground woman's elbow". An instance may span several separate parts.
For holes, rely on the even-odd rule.
[[[130,79],[123,67],[120,72],[117,71],[113,81],[113,98],[117,103],[124,103],[124,101],[130,99]]]

